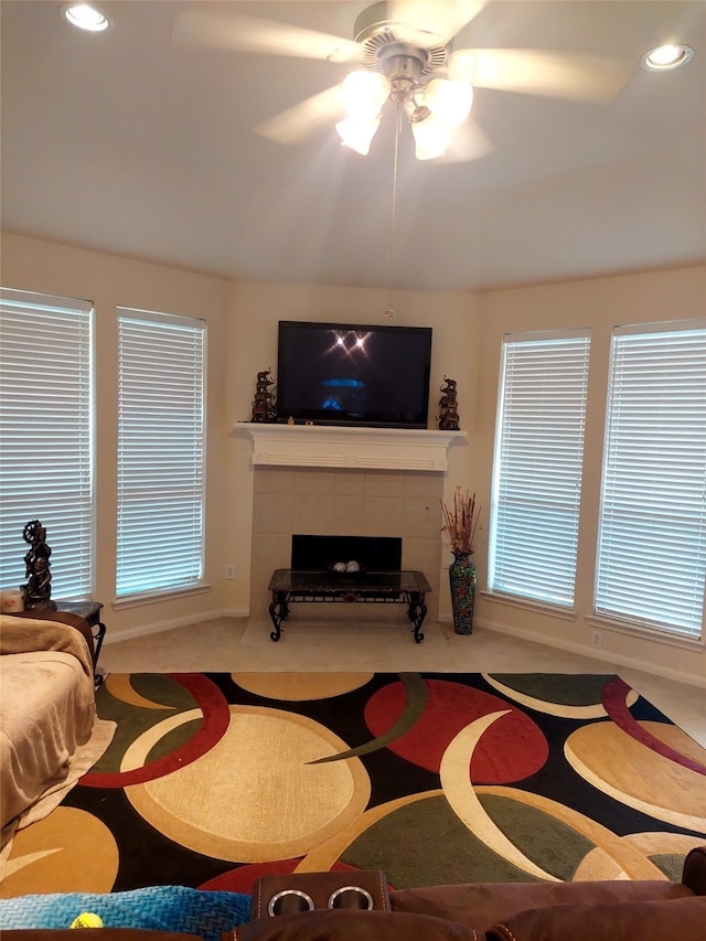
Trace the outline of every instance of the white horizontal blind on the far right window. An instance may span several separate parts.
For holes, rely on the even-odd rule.
[[[699,638],[706,577],[706,321],[613,332],[597,613]]]

